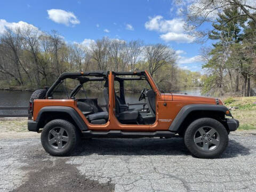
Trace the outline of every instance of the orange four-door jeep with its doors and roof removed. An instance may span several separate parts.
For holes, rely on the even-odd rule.
[[[67,99],[54,99],[54,90],[65,79],[78,85],[70,94],[66,90]],[[145,85],[139,101],[146,102],[140,108],[126,103],[126,81]],[[98,98],[76,98],[80,90],[86,94],[83,85],[91,82],[103,83],[105,106],[98,105]],[[35,91],[29,103],[28,130],[42,131],[42,145],[54,156],[71,154],[82,137],[183,137],[194,156],[215,158],[238,126],[219,99],[164,93],[147,71],[63,73],[49,89]]]

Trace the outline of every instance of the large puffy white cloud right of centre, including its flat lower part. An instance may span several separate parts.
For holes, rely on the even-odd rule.
[[[165,20],[161,15],[157,15],[154,18],[149,17],[149,21],[145,23],[145,28],[162,33],[160,38],[165,42],[191,43],[195,38],[186,34],[183,28],[184,24],[185,21],[181,18]]]

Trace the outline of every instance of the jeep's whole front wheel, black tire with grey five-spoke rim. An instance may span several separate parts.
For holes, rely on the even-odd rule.
[[[228,132],[219,121],[212,118],[200,118],[188,126],[184,142],[194,156],[216,158],[228,145]]]

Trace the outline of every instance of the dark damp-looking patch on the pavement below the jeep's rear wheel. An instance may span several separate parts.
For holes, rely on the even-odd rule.
[[[114,191],[115,185],[110,183],[99,183],[79,174],[74,165],[66,164],[67,157],[60,157],[56,161],[50,161],[47,155],[34,154],[33,164],[23,167],[29,171],[28,179],[23,185],[13,191]],[[36,160],[36,161],[35,161]]]

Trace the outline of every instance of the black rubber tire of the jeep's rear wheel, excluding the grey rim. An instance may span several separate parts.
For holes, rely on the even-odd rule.
[[[49,132],[54,129],[54,127],[62,127],[68,133],[69,141],[67,145],[62,149],[55,149],[51,146],[48,141]],[[47,123],[41,134],[42,146],[47,153],[53,156],[68,156],[75,152],[75,148],[78,143],[81,141],[81,135],[79,134],[77,128],[70,122],[63,119],[54,119]]]

